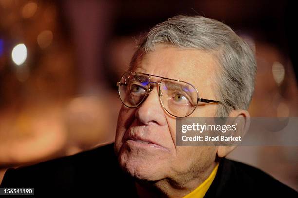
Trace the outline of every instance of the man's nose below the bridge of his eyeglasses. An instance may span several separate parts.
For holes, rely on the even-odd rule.
[[[152,87],[153,89],[153,87]],[[161,107],[158,97],[158,90],[153,89],[141,106],[135,111],[135,117],[143,124],[166,124],[164,109]]]

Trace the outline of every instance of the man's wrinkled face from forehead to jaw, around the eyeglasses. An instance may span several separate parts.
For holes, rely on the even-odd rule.
[[[133,70],[189,82],[200,97],[216,100],[216,69],[212,54],[158,45],[136,61]],[[152,81],[160,78],[152,77]],[[216,108],[217,104],[199,104],[189,117],[214,117]],[[214,165],[216,148],[176,147],[175,132],[175,117],[162,108],[156,86],[138,108],[122,105],[115,139],[120,166],[141,180],[179,182],[200,177]],[[149,146],[146,141],[156,145]]]

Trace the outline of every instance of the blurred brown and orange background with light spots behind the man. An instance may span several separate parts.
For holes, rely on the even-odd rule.
[[[298,117],[290,2],[0,0],[0,182],[9,167],[112,142],[116,81],[136,40],[177,14],[220,20],[256,50],[252,117]],[[298,147],[238,147],[228,157],[298,190]]]

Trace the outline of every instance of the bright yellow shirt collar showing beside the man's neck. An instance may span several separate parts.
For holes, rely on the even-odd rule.
[[[215,178],[217,169],[218,164],[215,166],[209,177],[203,183],[201,183],[201,185],[199,185],[196,189],[194,189],[192,192],[190,192],[183,198],[203,198]]]

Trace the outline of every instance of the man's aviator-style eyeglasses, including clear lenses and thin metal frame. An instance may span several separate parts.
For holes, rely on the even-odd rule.
[[[154,82],[151,76],[161,80]],[[198,90],[185,81],[133,71],[125,72],[120,82],[117,82],[122,103],[129,108],[140,106],[153,90],[154,84],[158,84],[158,96],[162,107],[175,117],[189,116],[196,109],[198,102],[222,104],[220,101],[199,98]]]

